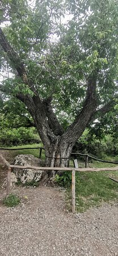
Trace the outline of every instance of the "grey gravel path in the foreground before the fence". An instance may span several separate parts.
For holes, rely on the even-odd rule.
[[[118,255],[117,204],[73,216],[64,192],[54,188],[19,187],[14,193],[28,199],[16,208],[1,205],[0,255]]]

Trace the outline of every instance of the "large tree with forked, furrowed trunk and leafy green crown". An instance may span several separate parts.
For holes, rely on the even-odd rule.
[[[1,69],[12,76],[0,89],[27,106],[47,166],[68,166],[88,123],[117,104],[117,1],[33,4],[2,3],[1,23],[8,23],[0,28]],[[64,25],[65,13],[71,20]],[[60,115],[69,116],[66,130]]]

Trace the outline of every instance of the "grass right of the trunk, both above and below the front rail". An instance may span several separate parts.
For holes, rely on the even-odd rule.
[[[106,160],[114,161],[114,158],[107,157]],[[70,160],[70,167],[73,161]],[[78,159],[78,167],[85,167],[85,162]],[[103,163],[95,160],[88,160],[88,167],[107,168],[116,167],[116,164]],[[118,200],[118,183],[109,179],[113,177],[118,180],[118,171],[102,172],[76,172],[76,211],[84,212],[90,207],[98,207],[102,202]],[[71,172],[64,172],[61,177],[56,177],[59,185],[67,188],[66,203],[71,210]]]

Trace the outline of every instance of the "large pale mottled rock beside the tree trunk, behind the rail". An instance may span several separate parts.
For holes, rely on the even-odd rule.
[[[15,165],[18,166],[45,166],[45,162],[39,158],[35,158],[33,155],[17,155],[14,159]],[[34,170],[34,169],[18,169],[14,168],[11,172],[11,187],[15,183],[30,183],[30,182],[36,182],[40,181],[43,177],[43,170]]]

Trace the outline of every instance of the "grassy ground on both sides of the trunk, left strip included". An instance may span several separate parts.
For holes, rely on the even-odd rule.
[[[43,144],[32,144],[18,147],[26,147],[26,150],[10,151],[12,156],[18,154],[32,154],[39,157],[38,150],[28,150],[27,147],[42,147]],[[14,147],[14,148],[18,148]],[[12,147],[13,148],[13,147]],[[45,158],[44,150],[42,159]],[[106,160],[114,160],[113,158],[107,158]],[[73,162],[70,161],[70,166],[73,166]],[[85,163],[78,160],[78,166],[85,167]],[[115,164],[102,163],[93,160],[88,161],[88,167],[115,167]],[[109,179],[115,177],[118,180],[118,171],[109,172],[80,172],[76,175],[76,209],[79,212],[98,206],[102,201],[118,200],[118,183]],[[68,193],[67,204],[70,208],[71,194]]]

